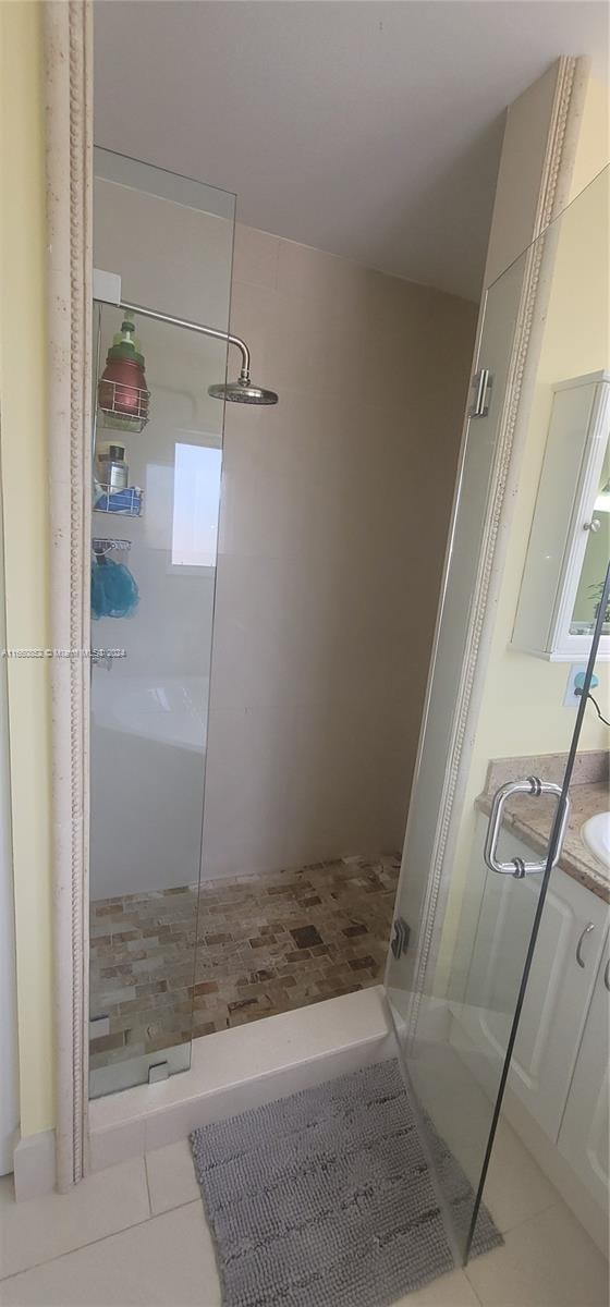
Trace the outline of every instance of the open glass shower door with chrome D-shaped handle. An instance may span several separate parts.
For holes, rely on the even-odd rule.
[[[588,655],[607,616],[610,518],[594,516],[610,386],[606,231],[607,174],[487,293],[479,365],[490,375],[479,372],[479,414],[469,422],[462,454],[405,840],[387,992],[458,1260],[477,1240],[506,1085],[524,1094],[528,1076],[542,1074],[562,967],[579,957],[577,985],[589,975],[583,950],[593,966],[601,946],[588,933],[586,906],[584,919],[577,906],[570,928],[562,929],[559,910],[554,916],[551,904],[545,916],[543,907],[547,891],[560,893],[558,877],[566,872],[553,868],[566,830],[568,857],[560,867],[567,880],[573,867],[579,827],[570,823],[568,800],[576,749],[576,779],[607,780],[603,727],[583,697],[564,702],[581,540],[593,521],[600,548],[586,583],[596,601],[586,631],[579,627],[585,691],[593,670]],[[512,521],[496,541],[494,497],[507,474],[504,396],[522,289],[532,276],[541,276],[547,306],[536,376],[524,387],[528,416],[515,437],[521,446],[519,481],[508,482]],[[494,545],[504,555],[491,596],[494,629],[477,655],[473,596],[481,593],[481,570]],[[470,684],[465,669],[473,651]],[[596,674],[602,680],[606,665],[596,665]],[[543,949],[537,955],[538,937]],[[559,963],[551,968],[553,957]],[[520,1026],[524,1002],[528,1021]],[[520,1084],[517,1063],[520,1072],[525,1068]],[[566,1076],[570,1082],[570,1067]],[[435,1165],[447,1150],[461,1168],[457,1183],[455,1168]]]

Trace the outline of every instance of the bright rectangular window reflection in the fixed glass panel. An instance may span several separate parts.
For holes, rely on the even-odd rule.
[[[214,567],[221,498],[221,450],[176,444],[174,472],[174,566]]]

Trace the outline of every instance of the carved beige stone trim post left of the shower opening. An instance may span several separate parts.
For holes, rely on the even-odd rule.
[[[88,1138],[93,13],[44,4],[57,1188]]]

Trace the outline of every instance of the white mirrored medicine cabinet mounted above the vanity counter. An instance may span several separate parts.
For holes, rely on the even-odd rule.
[[[586,661],[610,541],[610,372],[554,387],[512,644]],[[598,657],[610,657],[610,626]]]

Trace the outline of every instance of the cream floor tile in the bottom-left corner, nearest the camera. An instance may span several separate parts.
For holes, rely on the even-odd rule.
[[[1,1307],[221,1307],[201,1202],[0,1283]]]

